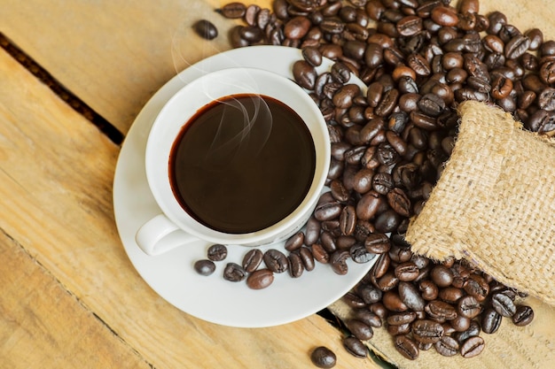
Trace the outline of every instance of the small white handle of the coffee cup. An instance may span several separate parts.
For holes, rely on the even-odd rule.
[[[174,233],[176,233],[176,237],[167,237]],[[199,238],[184,232],[165,214],[158,214],[138,229],[135,241],[145,254],[156,256],[178,246],[199,241]]]

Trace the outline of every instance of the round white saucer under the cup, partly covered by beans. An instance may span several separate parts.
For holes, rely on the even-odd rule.
[[[113,180],[113,208],[121,242],[137,272],[154,291],[199,319],[231,327],[270,327],[302,319],[345,295],[373,265],[349,260],[348,274],[340,276],[332,272],[330,265],[317,264],[312,272],[305,271],[298,279],[287,273],[277,274],[269,288],[253,290],[244,281],[233,283],[222,277],[226,263],[241,264],[248,250],[245,247],[230,246],[226,260],[217,262],[215,273],[205,277],[196,273],[192,265],[199,258],[206,258],[209,243],[198,242],[149,257],[135,242],[138,227],[160,213],[146,181],[145,145],[152,122],[168,98],[200,75],[232,66],[261,68],[293,79],[291,68],[300,58],[300,50],[279,46],[251,46],[206,58],[177,74],[152,96],[121,147]],[[325,60],[319,72],[331,65],[330,60]],[[353,80],[363,87],[360,80]],[[284,250],[284,245],[271,248]]]

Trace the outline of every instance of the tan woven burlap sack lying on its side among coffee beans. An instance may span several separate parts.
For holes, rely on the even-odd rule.
[[[465,102],[459,115],[455,149],[406,239],[555,304],[555,141],[486,104]]]

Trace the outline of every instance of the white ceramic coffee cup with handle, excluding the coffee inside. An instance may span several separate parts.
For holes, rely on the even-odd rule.
[[[238,94],[272,97],[295,111],[314,142],[316,168],[307,195],[284,219],[246,234],[220,232],[200,223],[179,204],[169,179],[169,156],[177,136],[192,116],[218,98]],[[145,170],[152,196],[161,213],[149,219],[136,234],[137,245],[148,255],[204,240],[244,246],[282,242],[304,226],[321,195],[330,166],[330,137],[322,113],[309,94],[293,81],[254,68],[229,68],[207,73],[187,84],[163,106],[152,124],[145,154]]]

